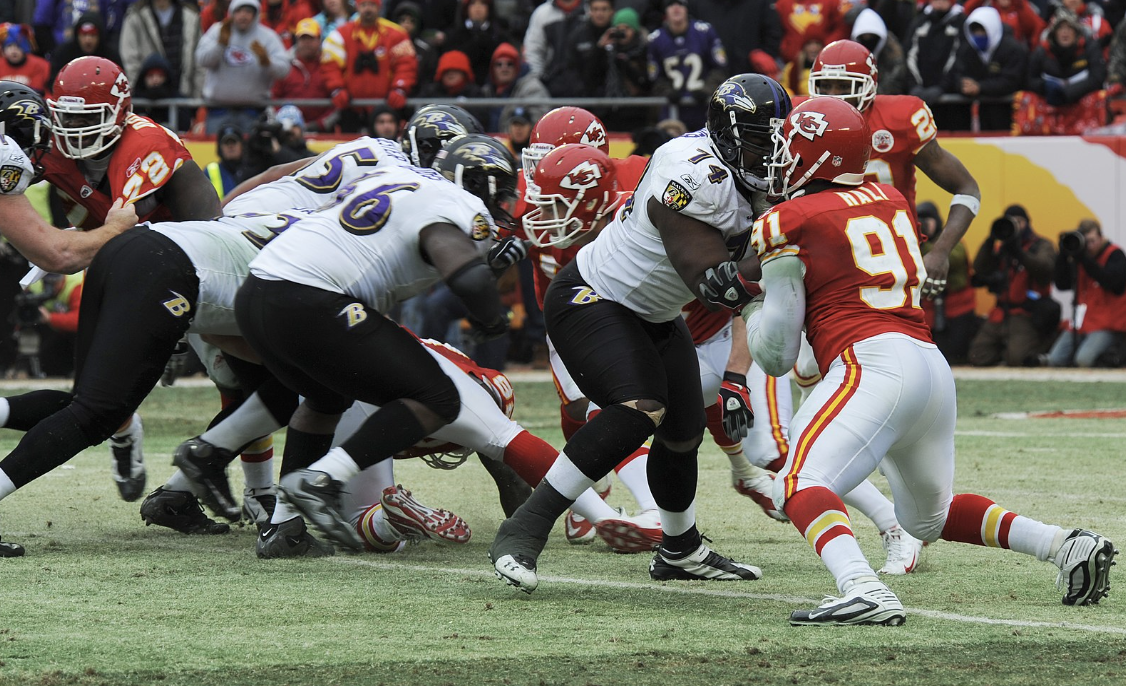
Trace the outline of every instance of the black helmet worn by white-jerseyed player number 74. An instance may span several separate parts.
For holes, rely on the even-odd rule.
[[[771,134],[789,110],[786,91],[761,74],[732,77],[713,93],[707,131],[720,159],[744,188],[767,189]]]

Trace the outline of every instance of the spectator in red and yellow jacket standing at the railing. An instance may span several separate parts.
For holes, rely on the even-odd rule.
[[[411,37],[381,18],[379,7],[379,0],[359,0],[359,18],[329,34],[322,46],[325,79],[345,131],[359,131],[370,121],[365,108],[348,108],[352,99],[385,98],[390,107],[402,109],[418,80]]]

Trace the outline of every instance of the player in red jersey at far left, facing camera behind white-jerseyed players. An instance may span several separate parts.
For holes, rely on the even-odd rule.
[[[133,205],[141,221],[221,214],[215,188],[176,134],[133,114],[128,79],[109,60],[84,56],[63,66],[47,108],[54,145],[43,158],[44,178],[59,189],[75,226],[105,223],[117,201]],[[57,392],[59,407],[69,397]],[[10,400],[19,404],[20,398]],[[114,481],[129,501],[144,492],[142,437],[138,416],[110,437]]]

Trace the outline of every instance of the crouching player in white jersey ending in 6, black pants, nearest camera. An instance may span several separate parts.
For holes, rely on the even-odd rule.
[[[515,199],[511,154],[489,136],[462,136],[435,168],[375,171],[251,262],[235,300],[239,328],[266,367],[304,397],[286,438],[285,498],[263,538],[295,509],[332,541],[363,547],[342,509],[342,482],[457,416],[453,381],[382,312],[443,279],[465,302],[479,336],[507,330],[483,257],[492,217]],[[354,400],[381,409],[330,451]]]

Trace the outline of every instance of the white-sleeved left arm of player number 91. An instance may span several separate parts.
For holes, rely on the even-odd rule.
[[[783,376],[797,362],[805,324],[805,283],[802,260],[781,256],[762,265],[761,308],[748,309],[747,345],[751,357],[771,376]]]

